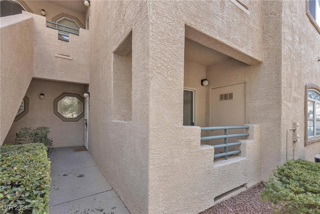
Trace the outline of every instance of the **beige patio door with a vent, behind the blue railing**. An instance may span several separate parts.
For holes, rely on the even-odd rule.
[[[244,120],[245,84],[236,84],[211,89],[211,126],[242,126]],[[228,134],[243,133],[243,129],[228,129]],[[224,130],[211,131],[211,136],[223,135]],[[238,138],[228,138],[228,143],[237,142]],[[211,145],[223,144],[224,139],[211,140]],[[234,146],[228,151],[235,150]],[[223,148],[214,153],[224,152]]]

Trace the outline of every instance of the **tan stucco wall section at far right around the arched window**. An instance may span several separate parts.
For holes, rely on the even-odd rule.
[[[299,10],[297,10],[299,8]],[[285,1],[283,22],[282,72],[282,163],[285,162],[286,132],[293,122],[300,124],[300,142],[295,145],[295,158],[314,161],[320,153],[320,141],[304,146],[305,139],[305,84],[320,85],[320,34],[306,15],[305,1]],[[288,158],[293,158],[292,131],[288,139]]]

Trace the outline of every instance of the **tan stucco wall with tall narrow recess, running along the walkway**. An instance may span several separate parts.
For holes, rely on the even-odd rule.
[[[89,152],[129,211],[148,213],[147,1],[91,1],[90,4]],[[131,29],[132,117],[126,122],[112,118],[113,52]],[[125,86],[124,83],[122,87]]]

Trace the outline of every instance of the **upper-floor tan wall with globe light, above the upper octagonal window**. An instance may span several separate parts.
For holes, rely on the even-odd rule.
[[[71,10],[68,10],[64,7],[60,7],[55,4],[51,4],[50,2],[46,1],[29,1],[24,0],[24,3],[28,5],[28,7],[32,10],[34,14],[41,15],[41,10],[44,9],[46,12],[45,17],[46,20],[52,21],[52,18],[61,14],[66,13],[68,15],[74,16],[79,19],[82,25],[85,26],[85,15],[81,13],[77,13]],[[42,16],[42,15],[41,15]]]

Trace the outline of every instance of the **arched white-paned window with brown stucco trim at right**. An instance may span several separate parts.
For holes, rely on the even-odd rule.
[[[320,87],[306,84],[305,146],[320,141]]]

